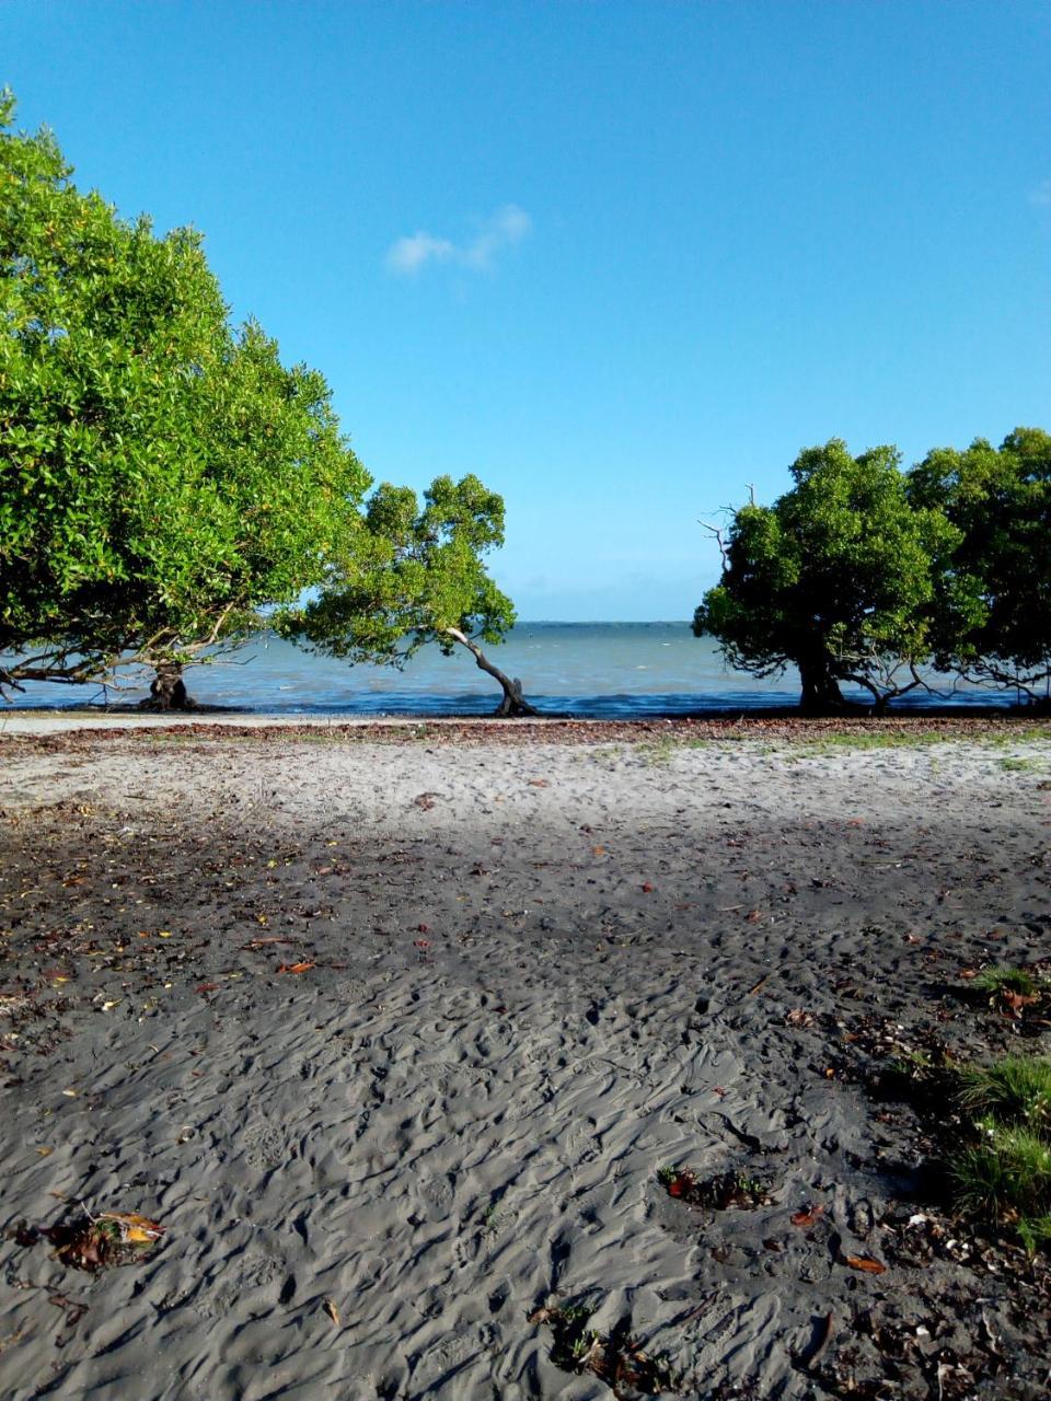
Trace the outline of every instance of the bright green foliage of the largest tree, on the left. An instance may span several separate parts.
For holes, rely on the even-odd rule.
[[[369,478],[324,378],[234,332],[200,235],[71,182],[0,99],[0,681],[234,640],[322,581]],[[80,660],[73,660],[78,654]]]

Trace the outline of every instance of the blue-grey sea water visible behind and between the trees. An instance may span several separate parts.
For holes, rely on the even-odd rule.
[[[554,713],[642,717],[792,706],[799,700],[793,672],[757,681],[730,671],[715,644],[694,637],[687,622],[518,623],[507,642],[486,653],[509,675],[521,678],[535,706]],[[499,686],[461,647],[454,657],[426,647],[398,671],[349,667],[269,635],[221,663],[193,667],[186,682],[202,703],[290,715],[486,715],[500,699]],[[944,689],[950,689],[947,684]],[[34,685],[14,705],[128,703],[147,691],[149,679],[137,689],[105,693],[95,686]],[[867,698],[862,692],[859,699]],[[914,693],[901,705],[1009,699],[959,686],[939,698]]]

